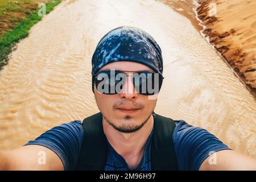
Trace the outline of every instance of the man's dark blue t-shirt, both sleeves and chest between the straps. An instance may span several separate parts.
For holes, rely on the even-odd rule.
[[[154,115],[154,114],[153,114]],[[155,115],[154,115],[155,118]],[[175,121],[172,139],[179,170],[198,170],[204,160],[213,152],[230,150],[214,135],[200,127],[188,125],[183,120]],[[154,128],[147,139],[141,162],[136,168],[129,168],[125,159],[108,142],[108,157],[105,171],[150,171],[150,149]],[[64,164],[65,170],[75,169],[84,139],[81,121],[72,121],[53,127],[26,145],[36,144],[55,152]]]

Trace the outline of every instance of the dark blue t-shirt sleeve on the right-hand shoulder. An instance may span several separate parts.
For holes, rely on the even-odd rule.
[[[212,152],[229,150],[228,146],[209,131],[189,125],[183,120],[175,123],[172,138],[177,163],[181,170],[198,170]]]

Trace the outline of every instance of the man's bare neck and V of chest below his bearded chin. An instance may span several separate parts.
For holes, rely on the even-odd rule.
[[[137,166],[136,164],[142,158],[144,146],[147,138],[150,135],[154,125],[154,119],[151,114],[145,125],[134,133],[121,133],[115,130],[109,123],[102,119],[102,126],[106,138],[115,151],[123,158],[125,158],[129,167]]]

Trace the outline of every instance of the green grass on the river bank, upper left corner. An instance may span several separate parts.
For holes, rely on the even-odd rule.
[[[6,0],[3,0],[3,1],[6,1]],[[26,0],[26,2],[30,2],[30,1]],[[53,8],[56,5],[58,5],[60,2],[61,0],[55,0],[53,2],[46,3],[46,14],[51,12]],[[1,3],[4,3],[4,2],[2,2],[1,0]],[[11,5],[11,6],[5,6],[5,10],[6,8],[11,10],[19,7],[15,7],[15,5]],[[20,20],[20,22],[13,28],[13,30],[6,32],[6,34],[1,36],[0,38],[0,70],[3,68],[3,66],[7,64],[9,60],[8,55],[11,53],[11,51],[13,51],[15,44],[18,43],[20,39],[26,38],[28,36],[28,31],[30,30],[30,28],[35,23],[39,22],[42,19],[41,16],[38,16],[38,10],[39,9],[31,11],[31,13],[27,16],[27,18]],[[0,10],[0,16],[1,16],[1,12],[2,11]],[[13,21],[16,21],[16,19],[13,19]]]

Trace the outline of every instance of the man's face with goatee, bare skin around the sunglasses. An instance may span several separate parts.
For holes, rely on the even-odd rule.
[[[131,61],[110,63],[101,68],[100,71],[110,69],[115,69],[116,71],[153,72],[146,65]],[[129,75],[129,72],[125,73]],[[101,94],[97,91],[94,84],[94,95],[98,108],[106,118],[106,121],[116,130],[123,133],[132,133],[141,129],[151,116],[152,111],[154,111],[157,101],[156,98],[154,100],[148,99],[148,96],[137,93],[131,76],[126,77],[121,93],[112,95]]]

